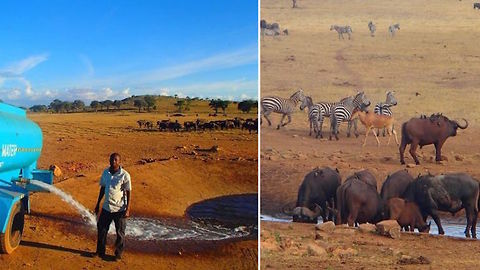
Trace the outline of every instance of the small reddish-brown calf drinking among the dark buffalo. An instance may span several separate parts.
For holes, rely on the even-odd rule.
[[[413,232],[415,228],[419,232],[428,233],[430,231],[430,224],[427,225],[423,220],[422,214],[418,205],[414,202],[405,202],[400,198],[391,198],[387,201],[387,210],[390,219],[394,219],[398,224],[405,229]]]

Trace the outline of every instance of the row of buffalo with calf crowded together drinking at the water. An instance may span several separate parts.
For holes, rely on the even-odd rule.
[[[479,207],[479,182],[465,173],[419,175],[414,179],[407,170],[397,171],[383,182],[380,193],[377,181],[368,170],[355,172],[343,183],[337,169],[315,168],[298,190],[296,206],[284,212],[294,222],[323,221],[354,226],[394,219],[405,230],[429,232],[431,216],[444,234],[439,211],[452,215],[465,209],[466,237],[476,238]]]

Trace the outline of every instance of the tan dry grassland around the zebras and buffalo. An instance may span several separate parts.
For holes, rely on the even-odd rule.
[[[261,40],[261,97],[289,97],[302,88],[314,102],[333,102],[363,90],[373,106],[385,101],[386,90],[394,90],[398,105],[392,110],[399,139],[401,124],[420,114],[441,112],[450,119],[466,118],[470,124],[447,140],[442,151],[447,160],[442,164],[434,161],[434,147],[425,146],[417,151],[421,165],[409,168],[409,172],[414,176],[426,172],[466,172],[480,179],[477,147],[480,143],[480,47],[477,45],[480,42],[477,27],[480,12],[473,9],[472,1],[297,2],[296,9],[291,8],[292,2],[288,0],[261,3],[261,18],[269,23],[278,22],[280,28],[289,31],[288,36],[266,36]],[[370,36],[369,21],[377,26],[375,37]],[[400,24],[400,30],[391,38],[387,29],[394,23]],[[337,33],[330,31],[334,24],[350,25],[352,39],[348,40],[345,35],[345,40],[339,40]],[[328,141],[308,136],[306,111],[295,112],[292,123],[280,131],[275,129],[279,115],[272,119],[271,127],[266,121],[261,127],[261,212],[264,214],[278,214],[285,204],[295,201],[303,177],[316,166],[336,167],[342,179],[367,168],[376,176],[379,187],[389,173],[405,168],[400,165],[398,147],[394,142],[387,146],[386,138],[380,137],[381,146],[377,147],[373,136],[369,136],[367,146],[362,148],[363,127],[360,127],[358,139],[347,138],[343,123],[340,140]],[[324,122],[323,131],[328,138],[329,120]],[[413,163],[408,147],[405,156],[407,163]],[[463,212],[458,213],[457,217],[462,215]],[[262,247],[271,241],[272,235],[291,239],[295,246],[302,244],[303,238],[294,231],[299,230],[304,237],[313,232],[311,226],[287,226],[280,228],[270,222],[262,223]],[[399,253],[382,253],[382,245],[393,248],[397,245],[382,239],[371,237],[369,243],[363,245],[355,244],[356,238],[332,236],[328,243],[359,251],[360,255],[347,259],[318,258],[309,256],[305,250],[295,255],[286,251],[288,248],[266,248],[262,249],[261,265],[262,268],[292,266],[302,269],[318,269],[319,265],[325,268],[332,265],[333,269],[405,267],[395,263]],[[413,255],[407,252],[413,245],[418,254],[432,261],[430,266],[434,269],[446,267],[442,265],[453,266],[458,260],[454,254],[476,258],[478,253],[478,242],[433,237],[422,241],[414,239],[402,238],[398,246],[405,247],[404,254]],[[376,245],[378,242],[380,244]],[[444,257],[441,253],[427,252],[438,243],[446,249]],[[471,269],[476,265],[478,259],[465,259],[458,269]]]

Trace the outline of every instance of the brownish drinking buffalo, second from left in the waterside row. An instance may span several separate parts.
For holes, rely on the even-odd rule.
[[[377,223],[385,217],[385,204],[375,187],[360,180],[358,174],[347,178],[337,189],[335,224]]]

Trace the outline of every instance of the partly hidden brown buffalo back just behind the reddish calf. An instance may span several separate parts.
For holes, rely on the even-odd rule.
[[[401,198],[408,185],[413,181],[413,177],[405,169],[394,172],[392,175],[388,175],[383,182],[380,197],[385,201],[391,198]]]

